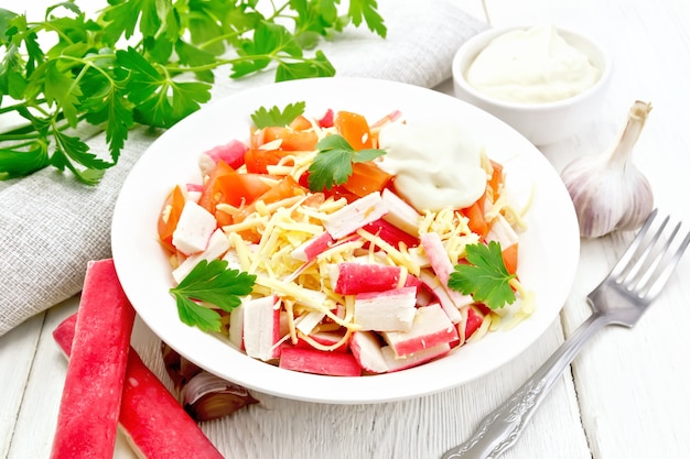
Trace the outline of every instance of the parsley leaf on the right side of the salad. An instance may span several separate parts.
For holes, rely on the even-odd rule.
[[[470,264],[457,264],[451,273],[448,286],[465,295],[472,295],[475,302],[484,303],[492,309],[504,307],[515,302],[515,292],[510,288],[510,280],[515,274],[508,273],[503,261],[500,243],[490,241],[466,247],[466,259]]]

